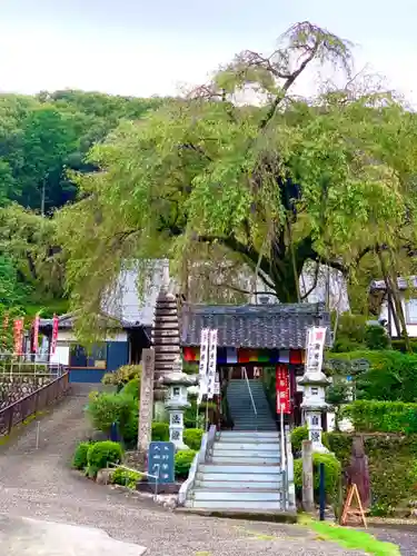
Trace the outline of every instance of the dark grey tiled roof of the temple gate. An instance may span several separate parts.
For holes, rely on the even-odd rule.
[[[330,317],[324,304],[185,305],[181,345],[199,346],[201,329],[217,328],[219,347],[304,349],[311,326],[327,326],[330,345]]]

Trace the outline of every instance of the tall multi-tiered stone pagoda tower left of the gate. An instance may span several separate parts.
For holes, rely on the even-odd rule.
[[[160,380],[172,373],[176,361],[181,357],[178,307],[176,297],[168,291],[168,268],[165,268],[152,326],[152,345],[155,351],[155,418],[161,420],[165,415],[166,387]]]

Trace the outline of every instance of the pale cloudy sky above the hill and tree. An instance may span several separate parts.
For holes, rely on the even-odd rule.
[[[416,18],[417,0],[0,0],[0,91],[175,95],[309,20],[417,106]]]

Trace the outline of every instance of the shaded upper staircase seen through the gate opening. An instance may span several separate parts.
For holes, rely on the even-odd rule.
[[[277,430],[261,380],[230,380],[227,401],[235,425],[234,430]]]

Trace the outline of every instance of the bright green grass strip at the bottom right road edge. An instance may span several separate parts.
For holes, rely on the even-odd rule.
[[[375,556],[400,556],[398,546],[378,540],[369,533],[305,518],[304,525],[317,533],[318,540],[332,540],[344,548],[363,550]]]

